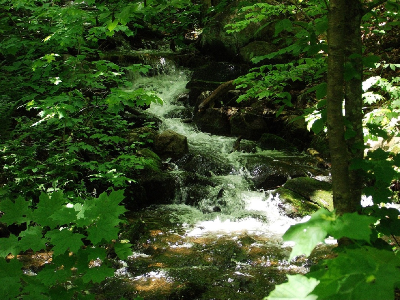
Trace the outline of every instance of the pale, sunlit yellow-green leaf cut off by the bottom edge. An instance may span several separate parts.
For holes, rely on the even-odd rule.
[[[316,300],[318,296],[310,295],[320,283],[315,278],[304,275],[286,275],[288,282],[279,284],[264,300]]]

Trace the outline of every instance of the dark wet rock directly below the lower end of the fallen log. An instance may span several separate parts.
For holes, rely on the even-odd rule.
[[[201,113],[197,113],[194,115],[193,121],[203,132],[218,135],[230,134],[228,116],[220,108],[208,108]]]

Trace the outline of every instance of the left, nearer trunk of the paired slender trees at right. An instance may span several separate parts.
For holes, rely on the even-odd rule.
[[[332,162],[333,203],[339,214],[350,201],[349,155],[344,139],[344,30],[346,0],[330,0],[328,12],[327,123]]]

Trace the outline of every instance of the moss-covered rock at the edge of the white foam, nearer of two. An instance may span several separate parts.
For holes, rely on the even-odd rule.
[[[282,201],[279,204],[280,209],[290,218],[304,218],[320,208],[317,204],[310,202],[287,188],[278,188],[273,193],[274,196],[276,194],[279,194],[279,199]]]

